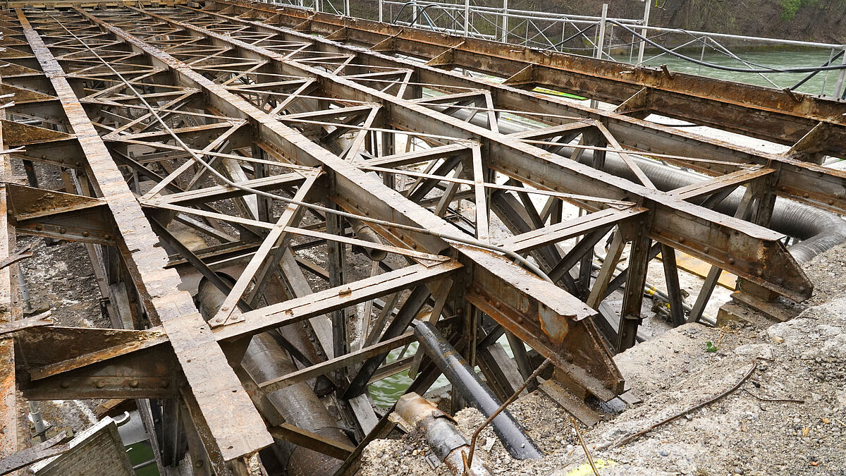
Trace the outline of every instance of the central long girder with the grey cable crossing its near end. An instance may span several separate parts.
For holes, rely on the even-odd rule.
[[[382,180],[372,174],[366,174],[352,163],[340,160],[337,156],[327,152],[326,149],[305,138],[298,131],[283,125],[250,102],[206,79],[171,55],[163,53],[157,47],[152,47],[136,36],[130,35],[121,28],[99,19],[85,10],[78,9],[77,11],[102,29],[129,42],[136,51],[149,54],[154,64],[167,66],[173,71],[181,84],[199,87],[206,91],[211,108],[215,108],[230,117],[250,119],[252,123],[257,125],[261,140],[283,152],[287,157],[294,158],[305,165],[323,165],[331,170],[334,176],[332,200],[338,202],[343,208],[376,219],[388,219],[399,224],[415,224],[444,235],[458,235],[460,233],[453,225],[438,219],[425,208],[421,208],[414,202],[409,202],[397,191],[382,184]],[[370,92],[370,90],[367,91]],[[397,245],[424,246],[431,252],[440,252],[450,246],[448,241],[432,235],[414,232],[403,235],[393,230],[386,230],[384,227],[376,228],[379,228],[382,236]],[[503,301],[508,300],[506,303],[509,306],[519,307],[520,302],[542,303],[548,309],[548,318],[558,321],[559,324],[565,325],[564,323],[572,321],[569,325],[591,327],[592,329],[592,323],[586,321],[585,318],[594,315],[595,312],[586,307],[583,302],[558,289],[557,286],[537,278],[495,253],[480,250],[475,246],[453,244],[452,247],[463,255],[460,258],[462,262],[472,264],[474,268],[494,270],[491,284],[501,289],[513,290],[513,292],[501,295]],[[257,311],[256,313],[260,312]],[[535,315],[530,316],[530,318],[538,319],[539,317]],[[255,319],[252,320],[255,321]],[[250,324],[250,319],[246,319],[243,323],[239,322],[224,327],[221,332],[230,332],[227,330],[230,327],[233,328],[231,332],[237,332],[234,326],[241,325],[250,326],[255,325],[255,323]],[[278,323],[271,321],[267,325],[278,325]],[[588,332],[586,335],[592,334]],[[531,340],[527,343],[533,345]],[[621,379],[618,377],[617,369],[610,368],[608,373],[616,376],[606,383],[610,391],[616,393],[622,390],[618,385]]]

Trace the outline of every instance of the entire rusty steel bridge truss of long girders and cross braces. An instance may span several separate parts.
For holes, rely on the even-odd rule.
[[[387,425],[367,395],[373,379],[413,367],[412,390],[425,390],[437,378],[420,357],[384,364],[387,351],[415,339],[415,318],[441,325],[497,394],[510,395],[534,368],[528,352],[515,352],[516,363],[502,357],[495,342],[504,333],[514,349],[525,342],[551,358],[569,390],[607,400],[624,384],[609,348],[634,345],[658,250],[677,324],[685,317],[676,250],[711,263],[711,274],[738,275],[758,296],[810,296],[784,236],[766,228],[772,204],[783,195],[842,211],[846,176],[462,75],[451,67],[496,66],[460,64],[458,49],[430,64],[386,54],[420,53],[406,39],[420,32],[350,46],[386,33],[302,14],[211,2],[0,15],[2,88],[14,95],[4,143],[25,147],[11,156],[52,166],[66,184],[6,185],[10,224],[84,242],[115,328],[47,326],[10,304],[3,325],[26,398],[169,401],[169,424],[184,428],[194,461],[215,473],[243,472],[272,436],[351,463],[356,452],[285,423],[267,395],[325,379],[360,451]],[[507,120],[525,130],[500,130]],[[565,146],[573,157],[559,155]],[[593,167],[571,160],[585,150]],[[639,151],[714,177],[658,191],[632,157]],[[607,152],[636,181],[598,170]],[[735,217],[710,209],[738,187]],[[565,219],[563,202],[585,214]],[[497,238],[491,213],[511,235]],[[593,248],[611,230],[592,276]],[[9,235],[0,246],[12,249]],[[615,278],[626,249],[628,270]],[[389,258],[362,272],[350,254],[360,250]],[[0,273],[11,296],[8,268]],[[227,294],[208,322],[185,291],[201,277]],[[706,280],[701,299],[715,282]],[[609,325],[595,309],[622,284],[623,310]],[[371,325],[354,340],[357,306]],[[266,381],[244,371],[250,339],[267,331],[299,370]],[[10,355],[8,340],[0,343]],[[4,395],[14,384],[3,382]],[[168,441],[158,446],[162,464],[179,461]]]

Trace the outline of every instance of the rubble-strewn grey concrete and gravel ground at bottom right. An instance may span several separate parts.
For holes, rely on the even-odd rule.
[[[748,322],[720,328],[685,324],[615,357],[642,401],[582,429],[603,476],[846,475],[846,283],[839,279],[844,261],[846,246],[838,246],[805,265],[816,291],[811,306],[788,322],[772,324],[750,312]],[[716,351],[708,351],[706,342]],[[607,449],[731,389],[753,363],[739,390]],[[533,393],[509,409],[547,457],[516,461],[485,429],[476,454],[493,473],[591,473],[569,415],[547,396]],[[475,409],[456,419],[468,438],[482,421]],[[429,466],[428,451],[417,434],[378,440],[363,454],[362,474],[447,474],[443,466]]]

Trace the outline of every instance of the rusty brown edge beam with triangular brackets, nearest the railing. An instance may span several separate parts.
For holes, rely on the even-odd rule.
[[[825,125],[829,141],[824,150],[840,157],[846,154],[846,107],[833,98],[302,8],[245,1],[220,3],[261,8],[276,15],[270,22],[275,25],[296,26],[376,51],[402,52],[441,67],[518,76],[523,87],[546,86],[616,104],[640,95],[645,99],[638,112],[644,115],[657,113],[767,141],[792,145],[816,126]]]

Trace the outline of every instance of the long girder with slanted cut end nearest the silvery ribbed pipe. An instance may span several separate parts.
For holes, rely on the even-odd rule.
[[[733,274],[743,276],[755,284],[794,300],[802,301],[810,296],[810,282],[780,242],[783,235],[695,206],[667,193],[636,185],[586,165],[551,157],[548,152],[512,136],[468,124],[415,102],[361,86],[343,75],[332,75],[286,58],[285,55],[268,48],[190,25],[186,19],[179,21],[137,8],[132,9],[168,25],[190,30],[194,35],[206,36],[213,42],[235,47],[248,58],[272,59],[283,71],[321,78],[323,87],[336,97],[390,104],[391,120],[401,129],[480,141],[488,150],[486,167],[536,188],[641,202],[642,206],[653,209],[656,214],[649,230],[651,239],[730,270]],[[195,11],[201,14],[200,11]],[[241,23],[238,19],[230,21]],[[582,206],[596,209],[592,204]],[[794,271],[788,273],[785,278],[784,268]]]

